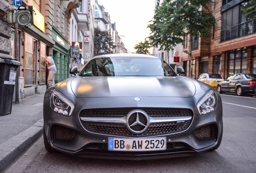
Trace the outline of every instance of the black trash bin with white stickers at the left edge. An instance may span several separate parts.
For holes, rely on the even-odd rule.
[[[0,56],[0,115],[12,112],[16,69],[21,65],[17,59]]]

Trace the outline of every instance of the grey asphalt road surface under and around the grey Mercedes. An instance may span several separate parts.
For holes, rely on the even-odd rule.
[[[192,157],[122,161],[47,153],[41,137],[6,173],[256,173],[256,99],[221,95],[219,149]]]

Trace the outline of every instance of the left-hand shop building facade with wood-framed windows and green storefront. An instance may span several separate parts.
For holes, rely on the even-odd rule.
[[[14,32],[17,31],[18,57],[22,63],[18,68],[19,93],[22,97],[44,93],[47,84],[45,57],[52,55],[57,73],[55,83],[68,77],[70,57],[70,17],[80,1],[23,0],[22,4],[33,10],[33,19],[27,26],[8,24],[7,10],[17,9],[12,0],[0,2],[0,56],[15,58]],[[30,6],[30,7],[29,7]],[[3,14],[3,15],[2,15]]]

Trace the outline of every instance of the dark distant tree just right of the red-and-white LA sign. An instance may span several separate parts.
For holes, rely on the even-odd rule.
[[[94,56],[102,54],[112,54],[114,43],[111,35],[107,31],[94,29]]]

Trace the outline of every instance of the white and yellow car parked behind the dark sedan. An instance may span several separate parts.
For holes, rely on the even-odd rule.
[[[197,80],[217,88],[219,82],[224,81],[220,74],[202,73]]]

